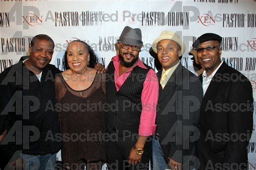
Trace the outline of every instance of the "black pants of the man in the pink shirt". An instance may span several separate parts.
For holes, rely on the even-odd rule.
[[[111,136],[110,140],[105,142],[108,170],[149,170],[149,160],[152,156],[151,137],[148,138],[144,145],[141,162],[132,166],[128,164],[128,156],[137,142],[138,135],[117,136],[115,131],[107,133]]]

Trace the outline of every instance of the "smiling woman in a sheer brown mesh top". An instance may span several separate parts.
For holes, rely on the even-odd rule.
[[[74,40],[66,48],[65,71],[55,78],[56,109],[62,141],[61,155],[68,169],[101,170],[106,160],[104,118],[105,74],[96,73],[92,48]]]

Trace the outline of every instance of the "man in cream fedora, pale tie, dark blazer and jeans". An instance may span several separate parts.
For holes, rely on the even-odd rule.
[[[185,45],[176,33],[162,31],[152,49],[162,65],[156,74],[160,87],[152,139],[153,170],[194,170],[201,83],[179,62]]]

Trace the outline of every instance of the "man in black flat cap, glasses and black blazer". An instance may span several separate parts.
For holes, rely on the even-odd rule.
[[[220,60],[221,37],[205,33],[193,43],[203,87],[198,158],[200,170],[247,170],[253,98],[249,80]]]

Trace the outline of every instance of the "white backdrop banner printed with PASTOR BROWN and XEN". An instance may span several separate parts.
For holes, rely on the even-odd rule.
[[[63,69],[67,44],[84,40],[107,66],[116,55],[116,39],[124,26],[142,31],[140,59],[156,70],[149,54],[152,41],[162,30],[176,32],[184,41],[183,66],[196,74],[191,51],[203,33],[222,36],[221,58],[243,73],[256,91],[256,0],[1,0],[0,72],[27,55],[34,35],[47,34],[55,42],[51,63]],[[255,108],[255,102],[254,102]],[[256,113],[248,145],[249,169],[256,169]]]

